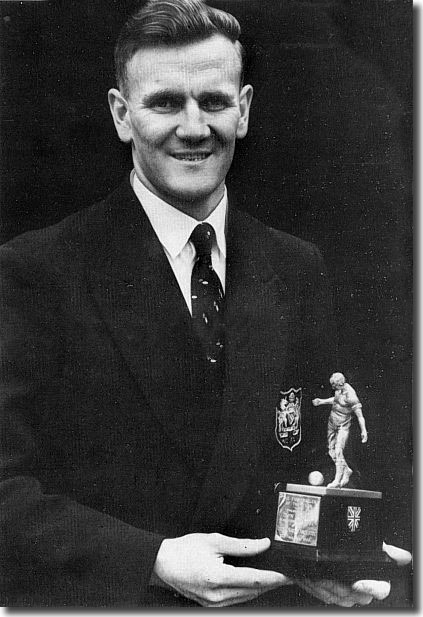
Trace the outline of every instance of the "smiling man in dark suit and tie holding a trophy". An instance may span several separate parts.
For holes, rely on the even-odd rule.
[[[309,401],[332,346],[318,251],[226,195],[252,100],[238,36],[200,0],[135,14],[109,92],[134,172],[2,249],[9,606],[351,606],[389,592],[253,567],[274,483],[306,475],[320,445],[310,404],[296,447],[279,443],[275,402],[291,387]]]

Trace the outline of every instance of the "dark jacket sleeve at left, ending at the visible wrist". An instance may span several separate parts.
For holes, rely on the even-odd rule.
[[[163,537],[36,477],[43,392],[64,357],[59,292],[36,260],[7,246],[0,256],[1,605],[143,605]]]

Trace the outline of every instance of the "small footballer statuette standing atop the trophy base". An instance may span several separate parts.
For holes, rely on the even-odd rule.
[[[350,434],[351,416],[357,416],[361,429],[361,442],[367,442],[366,421],[362,412],[362,405],[358,399],[356,391],[345,382],[342,373],[333,373],[329,382],[335,390],[335,395],[330,398],[315,398],[312,403],[315,407],[319,405],[332,405],[328,420],[328,451],[329,456],[335,463],[335,478],[328,484],[328,487],[342,487],[348,484],[352,469],[348,466],[344,457],[344,448],[347,445]]]

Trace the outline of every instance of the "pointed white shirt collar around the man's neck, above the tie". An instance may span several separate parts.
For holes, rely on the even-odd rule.
[[[169,252],[172,259],[174,259],[188,242],[199,221],[154,195],[138,179],[135,170],[131,172],[131,184],[161,244]],[[214,228],[218,249],[224,257],[226,257],[225,224],[227,206],[228,197],[225,186],[225,192],[219,204],[203,221],[210,223]]]

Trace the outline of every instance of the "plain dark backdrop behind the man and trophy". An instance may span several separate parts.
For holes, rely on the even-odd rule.
[[[0,3],[0,241],[102,198],[131,169],[106,93],[114,41],[138,4]],[[410,547],[411,0],[211,4],[239,18],[255,87],[229,188],[257,218],[321,248],[334,369],[356,388],[369,430],[358,463],[387,497],[391,541]]]

